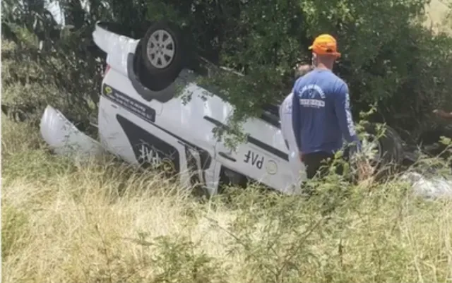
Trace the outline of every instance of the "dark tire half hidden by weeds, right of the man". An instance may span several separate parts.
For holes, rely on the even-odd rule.
[[[376,124],[366,124],[364,131],[369,136],[376,138],[379,135],[379,130]],[[403,140],[399,134],[390,126],[385,126],[385,131],[382,136],[376,141],[377,154],[373,160],[372,165],[376,167],[377,176],[383,176],[393,173],[400,164],[403,163]]]

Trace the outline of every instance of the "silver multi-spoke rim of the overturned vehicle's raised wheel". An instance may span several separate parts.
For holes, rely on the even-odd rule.
[[[166,68],[174,59],[174,39],[166,30],[155,30],[148,40],[146,51],[150,64]]]

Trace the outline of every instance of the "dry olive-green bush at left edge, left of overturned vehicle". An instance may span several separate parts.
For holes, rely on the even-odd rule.
[[[79,35],[45,50],[32,32],[18,27],[15,31],[17,42],[2,42],[2,109],[36,125],[51,104],[82,128],[88,126],[97,117],[100,87],[95,85],[100,85],[101,76],[94,56],[82,59],[83,52],[71,50]]]

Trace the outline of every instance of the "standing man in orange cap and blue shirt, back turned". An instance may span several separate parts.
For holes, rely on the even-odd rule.
[[[349,143],[360,145],[350,112],[347,84],[332,71],[340,57],[335,38],[319,35],[309,49],[315,68],[295,82],[292,124],[299,158],[311,179],[322,163],[333,159],[341,149],[343,137]]]

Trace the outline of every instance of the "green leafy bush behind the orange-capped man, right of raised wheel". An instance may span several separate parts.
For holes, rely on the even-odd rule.
[[[237,106],[232,124],[287,95],[293,64],[309,60],[314,37],[329,32],[343,52],[336,71],[350,85],[355,117],[376,102],[374,121],[415,133],[432,121],[432,109],[447,107],[451,89],[452,40],[421,25],[426,4],[273,0],[196,1],[191,11],[182,2],[172,6],[206,56],[246,73],[215,81]]]

